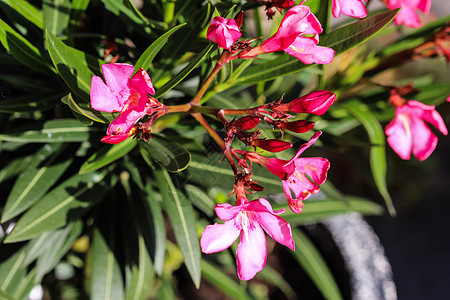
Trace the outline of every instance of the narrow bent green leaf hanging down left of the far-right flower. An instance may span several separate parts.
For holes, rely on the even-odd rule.
[[[369,109],[357,102],[347,103],[344,107],[352,114],[367,131],[369,140],[372,144],[370,147],[370,168],[375,184],[381,196],[386,202],[391,216],[396,215],[391,196],[386,184],[386,149],[385,149],[385,135],[383,127]]]

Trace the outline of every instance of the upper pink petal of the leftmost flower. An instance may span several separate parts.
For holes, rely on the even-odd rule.
[[[134,67],[129,64],[111,63],[102,65],[106,85],[115,93],[130,89],[130,77]]]

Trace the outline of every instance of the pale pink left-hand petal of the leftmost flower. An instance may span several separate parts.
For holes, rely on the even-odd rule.
[[[120,112],[123,108],[121,97],[111,91],[98,76],[91,80],[91,107],[98,111]]]

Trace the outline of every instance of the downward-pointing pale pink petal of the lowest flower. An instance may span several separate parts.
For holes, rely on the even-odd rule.
[[[250,280],[255,277],[266,264],[266,252],[264,231],[257,223],[250,222],[247,229],[242,230],[236,251],[239,279]]]

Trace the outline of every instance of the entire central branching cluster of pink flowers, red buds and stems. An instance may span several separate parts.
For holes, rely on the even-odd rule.
[[[277,9],[292,6],[291,1],[273,1]],[[303,2],[302,2],[303,3]],[[336,96],[329,91],[314,91],[292,101],[271,102],[247,109],[215,109],[200,107],[199,100],[208,84],[220,68],[233,59],[255,58],[261,53],[285,51],[299,60],[311,63],[330,63],[334,51],[317,46],[318,35],[322,27],[309,7],[297,5],[290,8],[281,25],[272,37],[257,47],[251,47],[249,41],[238,42],[241,37],[242,13],[235,19],[215,17],[207,30],[207,38],[224,48],[223,55],[211,72],[205,85],[188,104],[165,106],[153,98],[155,90],[150,76],[144,69],[135,72],[128,64],[110,63],[102,66],[104,80],[98,76],[92,78],[91,107],[95,110],[119,113],[109,125],[105,143],[116,144],[126,138],[138,135],[150,137],[150,126],[160,116],[172,112],[189,112],[222,148],[235,175],[233,191],[236,193],[236,205],[218,204],[217,216],[225,221],[206,227],[201,238],[204,253],[222,251],[240,237],[237,249],[238,276],[249,280],[262,270],[266,262],[266,240],[264,231],[275,241],[294,250],[291,227],[279,215],[284,209],[274,211],[263,198],[249,201],[246,194],[264,190],[252,179],[253,165],[261,165],[278,176],[285,192],[289,207],[294,213],[301,213],[303,200],[317,193],[327,178],[330,163],[321,157],[300,157],[321,135],[313,134],[309,142],[302,145],[290,160],[269,158],[256,151],[281,152],[291,148],[290,142],[281,139],[265,139],[256,127],[265,122],[273,129],[303,133],[314,127],[307,120],[291,121],[293,114],[307,113],[323,115],[334,103]],[[202,114],[211,114],[220,120],[226,130],[222,139],[212,129]],[[235,116],[227,119],[227,116]],[[241,141],[246,150],[233,147],[234,140]]]

